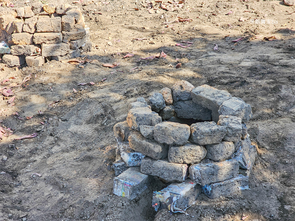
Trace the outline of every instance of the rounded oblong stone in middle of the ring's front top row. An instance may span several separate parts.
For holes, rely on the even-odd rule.
[[[162,144],[183,145],[188,141],[190,132],[190,128],[186,124],[162,122],[155,125],[154,138]]]

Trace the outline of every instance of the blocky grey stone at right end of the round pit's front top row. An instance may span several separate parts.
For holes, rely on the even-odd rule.
[[[236,116],[220,115],[217,125],[224,126],[226,133],[224,141],[239,141],[242,136],[242,119]]]

